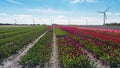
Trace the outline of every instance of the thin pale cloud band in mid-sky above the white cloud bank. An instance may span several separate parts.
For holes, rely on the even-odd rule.
[[[40,16],[56,16],[56,15],[75,15],[73,11],[62,11],[54,9],[25,9],[26,12],[35,13]],[[78,15],[78,14],[77,14]]]

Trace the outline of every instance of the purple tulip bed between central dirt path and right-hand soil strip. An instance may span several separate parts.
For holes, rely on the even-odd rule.
[[[81,49],[83,45],[64,31],[60,29],[55,31],[58,39],[58,58],[62,68],[93,68],[90,61],[88,61],[87,54]]]

